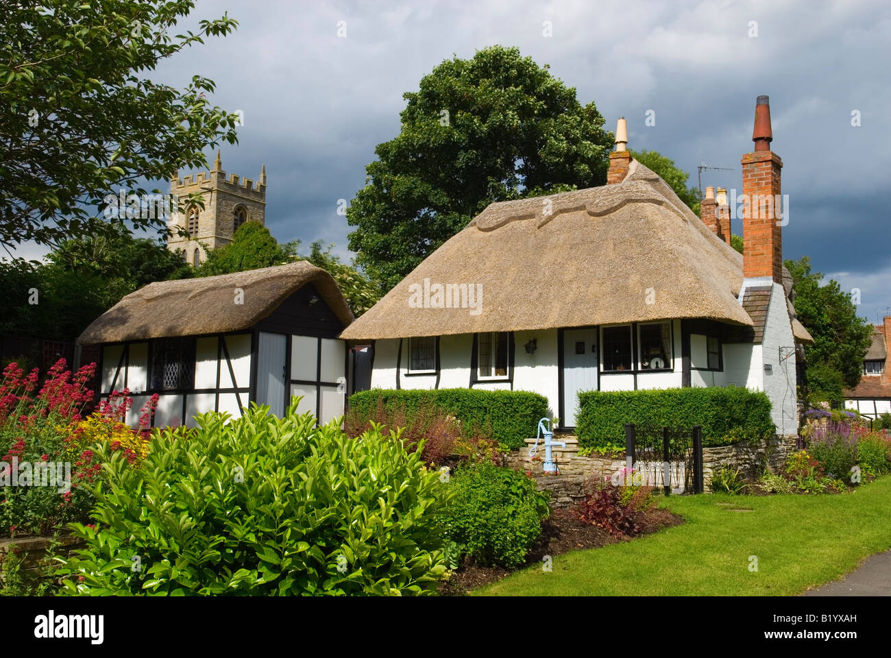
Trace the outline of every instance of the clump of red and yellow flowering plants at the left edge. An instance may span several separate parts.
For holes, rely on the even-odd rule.
[[[66,522],[83,521],[92,494],[79,486],[100,475],[94,444],[109,440],[131,462],[144,456],[143,432],[121,423],[132,400],[115,393],[93,414],[93,391],[86,382],[95,364],[76,373],[60,359],[46,374],[39,391],[39,372],[28,375],[15,363],[4,369],[0,382],[0,534],[45,534]],[[35,392],[37,391],[37,392]],[[143,431],[148,427],[153,399],[143,409]],[[86,417],[85,417],[86,415]],[[129,458],[129,457],[128,457]]]

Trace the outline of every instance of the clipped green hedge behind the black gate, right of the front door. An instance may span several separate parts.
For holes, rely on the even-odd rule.
[[[581,448],[625,449],[625,423],[654,427],[702,425],[705,446],[771,436],[771,401],[738,386],[578,394],[576,433]]]

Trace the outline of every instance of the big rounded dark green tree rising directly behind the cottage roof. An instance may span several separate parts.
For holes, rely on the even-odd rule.
[[[404,98],[399,135],[347,209],[349,248],[384,290],[491,202],[606,182],[600,112],[517,48],[446,60]]]

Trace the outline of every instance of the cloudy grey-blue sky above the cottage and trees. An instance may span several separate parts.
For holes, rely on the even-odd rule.
[[[181,54],[158,77],[182,86],[206,75],[216,103],[244,111],[223,169],[256,179],[266,163],[266,224],[280,242],[323,238],[348,255],[338,200],[353,198],[374,146],[396,136],[403,93],[453,53],[516,45],[551,64],[581,103],[594,101],[609,129],[624,115],[629,146],[672,158],[692,185],[704,161],[735,169],[704,172],[704,186],[740,189],[755,99],[770,95],[790,200],[785,257],[809,255],[846,290],[860,288],[861,314],[873,322],[891,307],[887,4],[199,0],[193,15],[224,11],[238,31]]]

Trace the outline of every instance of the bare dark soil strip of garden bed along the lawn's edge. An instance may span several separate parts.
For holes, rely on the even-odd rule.
[[[674,525],[683,523],[683,516],[661,508],[650,507],[639,516],[641,533],[644,536]],[[526,563],[520,568],[534,564],[542,564],[545,555],[563,555],[570,551],[585,548],[600,548],[634,537],[620,539],[609,534],[599,526],[584,523],[578,519],[570,508],[556,508],[550,518],[542,523],[542,536],[529,551]],[[480,566],[470,558],[460,569],[453,572],[449,580],[440,587],[439,593],[445,596],[463,596],[471,589],[502,580],[513,573],[510,569],[499,566]]]

